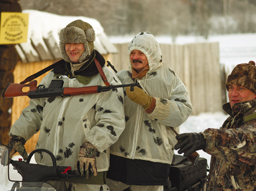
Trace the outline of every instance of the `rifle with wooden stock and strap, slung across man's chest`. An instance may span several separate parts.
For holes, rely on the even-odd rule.
[[[18,96],[28,96],[30,99],[34,98],[47,98],[47,97],[68,97],[68,96],[78,96],[82,94],[92,94],[92,93],[100,93],[100,92],[106,92],[112,89],[116,89],[118,87],[127,87],[130,86],[131,91],[133,91],[134,86],[139,86],[139,83],[132,83],[132,84],[121,84],[121,85],[110,85],[108,83],[107,77],[105,76],[102,67],[99,63],[99,61],[94,58],[95,65],[99,71],[99,74],[101,76],[101,79],[103,80],[104,84],[106,86],[86,86],[86,87],[63,87],[63,80],[52,80],[49,87],[45,88],[44,85],[39,85],[37,87],[37,80],[33,80],[37,78],[38,76],[41,76],[46,71],[49,71],[57,65],[63,64],[63,62],[60,60],[54,64],[49,65],[49,67],[44,68],[43,70],[38,71],[36,74],[33,74],[29,77],[27,77],[25,80],[20,82],[19,84],[15,83],[9,83],[2,94],[3,98],[13,98]],[[28,84],[26,84],[29,82]],[[29,87],[29,91],[23,91],[26,88]]]

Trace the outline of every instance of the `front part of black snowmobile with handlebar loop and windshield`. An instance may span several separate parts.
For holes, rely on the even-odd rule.
[[[45,166],[39,164],[32,164],[30,160],[34,153],[36,152],[46,152],[50,155],[52,159],[52,166]],[[27,191],[27,190],[47,190],[47,191],[58,191],[48,180],[57,179],[68,179],[71,177],[80,177],[72,171],[71,166],[57,166],[56,158],[53,156],[52,152],[46,149],[36,149],[29,154],[26,161],[24,160],[11,160],[10,164],[13,166],[14,170],[22,175],[22,180],[11,180],[10,178],[10,167],[8,164],[9,160],[9,150],[6,145],[0,144],[0,161],[1,165],[8,168],[8,179],[13,182],[10,191]]]

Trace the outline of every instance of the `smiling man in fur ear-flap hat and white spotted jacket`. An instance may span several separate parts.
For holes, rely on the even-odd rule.
[[[40,85],[49,87],[53,79],[58,79],[63,80],[63,87],[105,86],[101,70],[109,84],[121,84],[94,49],[95,32],[91,25],[75,20],[60,31],[59,38],[63,60]],[[99,69],[95,65],[98,62]],[[122,89],[31,99],[11,127],[10,158],[18,151],[26,160],[24,144],[40,130],[36,149],[50,150],[57,165],[71,166],[84,177],[52,181],[58,190],[109,190],[105,184],[109,146],[119,138],[124,121]],[[35,159],[38,164],[52,165],[47,153],[37,153]]]

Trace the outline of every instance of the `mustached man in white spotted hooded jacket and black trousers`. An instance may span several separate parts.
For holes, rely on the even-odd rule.
[[[192,113],[188,91],[175,72],[162,62],[152,34],[141,32],[128,45],[129,71],[116,76],[122,84],[139,82],[141,88],[124,89],[126,128],[110,147],[107,185],[110,190],[163,190],[177,143],[174,127]]]

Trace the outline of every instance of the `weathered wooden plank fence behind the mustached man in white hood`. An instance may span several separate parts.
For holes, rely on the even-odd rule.
[[[118,54],[110,56],[117,71],[128,69],[128,43],[115,44]],[[186,45],[160,44],[163,63],[174,70],[187,87],[193,106],[192,115],[222,111],[223,68],[219,63],[219,44],[191,43]],[[223,78],[223,79],[222,79]]]

